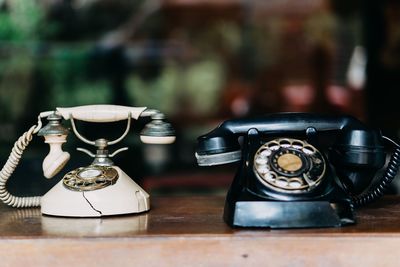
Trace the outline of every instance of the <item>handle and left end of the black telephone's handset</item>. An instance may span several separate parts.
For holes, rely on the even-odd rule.
[[[332,133],[367,127],[351,116],[321,116],[310,113],[283,112],[254,119],[232,119],[220,124],[197,141],[196,158],[199,165],[217,165],[238,161],[238,137],[256,129],[263,135],[307,135],[308,132]],[[312,131],[309,131],[312,130]]]

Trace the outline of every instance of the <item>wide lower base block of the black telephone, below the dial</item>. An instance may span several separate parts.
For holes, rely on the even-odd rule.
[[[322,228],[355,223],[349,203],[328,201],[227,202],[224,220],[233,227],[265,228]]]

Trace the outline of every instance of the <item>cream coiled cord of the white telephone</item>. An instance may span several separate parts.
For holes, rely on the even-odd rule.
[[[14,143],[14,147],[11,150],[10,156],[8,157],[6,164],[0,171],[0,200],[2,200],[5,204],[9,206],[16,208],[40,206],[40,196],[17,197],[10,194],[10,192],[8,192],[6,189],[8,178],[10,178],[11,174],[17,167],[19,160],[22,157],[22,153],[32,140],[33,134],[39,131],[40,127],[40,125],[34,125],[20,138],[18,138],[18,140]]]

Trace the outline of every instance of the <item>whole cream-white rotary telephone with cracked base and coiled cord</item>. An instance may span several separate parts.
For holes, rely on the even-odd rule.
[[[46,215],[67,217],[100,217],[106,215],[140,213],[150,209],[149,195],[137,185],[124,171],[115,166],[111,158],[127,150],[120,148],[109,153],[108,146],[121,141],[129,132],[131,119],[151,118],[141,131],[140,139],[148,144],[170,144],[175,141],[174,130],[164,115],[145,107],[126,107],[117,105],[87,105],[56,108],[55,111],[42,112],[38,124],[32,126],[14,144],[11,154],[0,171],[0,199],[12,207],[37,207]],[[42,119],[48,124],[42,128]],[[50,145],[50,152],[43,161],[43,172],[47,178],[56,175],[70,158],[62,150],[68,130],[61,125],[62,119],[70,120],[73,132],[83,142],[97,148],[96,154],[78,148],[93,157],[92,164],[69,171],[52,189],[42,197],[17,197],[6,189],[8,178],[14,172],[24,149],[34,134],[43,136]],[[116,140],[104,138],[91,141],[77,130],[74,120],[106,123],[127,120],[125,132]]]

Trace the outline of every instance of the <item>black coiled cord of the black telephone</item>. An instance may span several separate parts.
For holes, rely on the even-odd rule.
[[[390,183],[396,177],[396,174],[399,170],[400,146],[398,144],[396,144],[393,140],[391,140],[385,136],[383,138],[395,146],[394,152],[393,152],[392,156],[390,157],[388,166],[387,166],[382,178],[380,179],[380,181],[376,185],[374,185],[372,188],[370,188],[367,192],[362,193],[361,195],[352,197],[353,204],[356,207],[364,206],[368,203],[373,202],[375,199],[383,196],[385,194],[385,191],[389,187]]]

